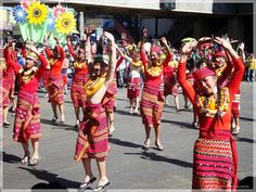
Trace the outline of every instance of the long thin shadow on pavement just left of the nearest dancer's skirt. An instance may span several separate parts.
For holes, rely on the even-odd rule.
[[[162,155],[157,155],[156,153],[152,153],[152,152],[141,152],[141,153],[124,153],[126,155],[141,155],[141,158],[143,159],[150,159],[150,161],[156,161],[156,162],[166,162],[166,163],[170,163],[174,165],[178,165],[181,167],[189,167],[192,168],[193,164],[189,163],[189,162],[183,162],[180,159],[176,159],[176,158],[168,158]]]

